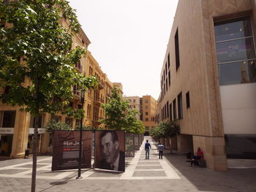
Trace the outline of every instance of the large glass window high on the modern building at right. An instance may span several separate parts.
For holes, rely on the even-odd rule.
[[[215,23],[219,84],[256,82],[255,45],[249,18]]]

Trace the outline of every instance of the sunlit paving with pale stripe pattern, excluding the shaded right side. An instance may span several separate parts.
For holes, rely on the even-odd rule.
[[[148,137],[151,138],[151,137]],[[125,172],[113,172],[99,169],[83,169],[82,180],[168,180],[179,179],[171,164],[165,159],[159,159],[155,142],[151,143],[150,157],[145,159],[144,139],[140,150],[135,152],[135,157],[126,158]],[[31,178],[32,158],[20,159],[20,164],[4,164],[0,167],[0,177]],[[65,180],[76,177],[78,170],[64,170],[51,172],[52,157],[39,156],[37,160],[37,179]],[[0,164],[7,161],[0,161]]]

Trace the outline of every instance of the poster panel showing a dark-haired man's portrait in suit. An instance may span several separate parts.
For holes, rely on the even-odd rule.
[[[124,172],[124,131],[95,131],[95,168]]]

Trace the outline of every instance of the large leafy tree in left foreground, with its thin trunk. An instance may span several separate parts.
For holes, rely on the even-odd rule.
[[[83,77],[75,64],[85,50],[72,49],[72,35],[80,24],[65,0],[0,0],[0,87],[7,89],[0,101],[38,117],[44,112],[62,111],[79,118],[83,110],[72,111],[72,86],[86,90],[97,84],[95,77]],[[66,23],[61,26],[61,22]],[[37,118],[38,122],[38,118]],[[37,126],[34,130],[31,191],[35,191],[37,169]]]

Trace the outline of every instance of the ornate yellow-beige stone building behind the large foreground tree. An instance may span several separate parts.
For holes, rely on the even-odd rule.
[[[62,25],[65,26],[65,20],[62,20]],[[73,37],[72,47],[81,46],[88,50],[91,43],[89,38],[83,32],[82,28],[78,34]],[[83,126],[99,126],[98,120],[105,117],[105,114],[100,107],[101,104],[108,102],[106,96],[110,95],[110,90],[113,88],[113,83],[108,80],[108,77],[100,69],[99,64],[94,59],[89,51],[80,60],[80,63],[75,65],[75,68],[86,77],[95,75],[99,80],[99,86],[94,90],[89,90],[85,94],[85,118],[83,118]],[[29,82],[28,82],[29,83]],[[4,93],[4,88],[1,88],[1,93]],[[80,99],[80,91],[73,87],[74,99],[70,102],[70,106],[75,108],[82,107]],[[69,118],[61,113],[51,116],[44,114],[39,118],[39,139],[38,152],[48,153],[51,151],[51,139],[44,126],[48,120],[55,119],[61,122],[69,123],[72,128],[80,126],[80,120]],[[10,105],[0,102],[0,157],[6,158],[22,158],[26,148],[32,150],[32,137],[34,134],[34,117],[28,112],[21,112],[19,107],[11,107]]]

